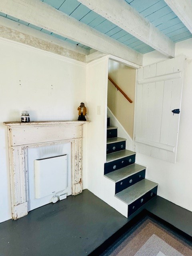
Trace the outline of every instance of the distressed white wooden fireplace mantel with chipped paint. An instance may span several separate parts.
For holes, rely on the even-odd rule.
[[[82,192],[82,125],[89,121],[4,122],[8,126],[12,218],[28,214],[27,148],[71,142],[72,195]]]

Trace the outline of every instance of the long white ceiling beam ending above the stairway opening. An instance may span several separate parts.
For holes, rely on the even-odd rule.
[[[0,12],[142,66],[143,55],[40,0],[1,0]]]

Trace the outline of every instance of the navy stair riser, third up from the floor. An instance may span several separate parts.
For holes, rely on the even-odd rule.
[[[134,164],[135,162],[135,154],[131,156],[126,156],[124,158],[120,158],[118,160],[114,160],[112,162],[108,162],[104,164],[104,174],[109,172],[113,172],[130,164]]]

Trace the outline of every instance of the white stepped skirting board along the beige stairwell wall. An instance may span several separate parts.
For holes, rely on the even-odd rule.
[[[133,140],[130,135],[126,132],[122,124],[118,121],[118,119],[114,116],[111,110],[107,107],[107,115],[110,116],[110,125],[118,127],[118,137],[126,139],[126,149],[133,150]]]

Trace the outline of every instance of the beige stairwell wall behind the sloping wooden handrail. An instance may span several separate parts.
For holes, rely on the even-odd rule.
[[[111,117],[111,125],[115,119],[120,123],[124,131],[130,137],[128,141],[129,149],[132,150],[130,143],[134,137],[134,98],[136,84],[136,69],[126,66],[120,62],[109,60],[108,76],[122,89],[122,91],[132,100],[130,103],[124,95],[108,80],[108,115]],[[112,118],[114,117],[114,118]],[[118,125],[119,127],[119,125]]]

